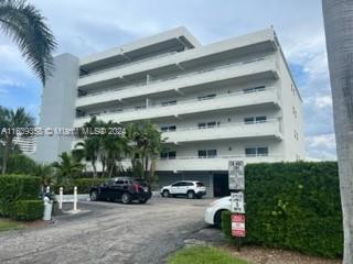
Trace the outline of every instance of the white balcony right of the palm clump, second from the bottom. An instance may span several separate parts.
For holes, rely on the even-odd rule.
[[[176,129],[163,132],[168,143],[184,143],[195,141],[213,141],[226,139],[266,138],[281,140],[281,127],[278,120],[267,120],[258,123],[226,123],[213,128]]]

